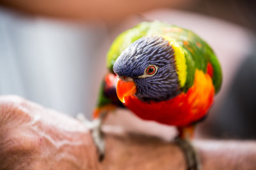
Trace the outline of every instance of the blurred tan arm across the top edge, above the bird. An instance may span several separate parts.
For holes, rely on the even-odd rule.
[[[1,0],[0,4],[25,11],[33,15],[45,15],[48,17],[69,18],[72,20],[103,20],[106,22],[118,22],[134,13],[140,13],[154,8],[167,8],[168,6],[180,6],[188,4],[190,0],[182,1],[31,1],[31,0]]]

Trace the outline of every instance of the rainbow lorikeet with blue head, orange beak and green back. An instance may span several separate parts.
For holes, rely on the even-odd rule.
[[[220,90],[221,67],[195,33],[163,22],[142,22],[122,32],[107,55],[106,74],[94,112],[125,107],[144,120],[193,134]]]

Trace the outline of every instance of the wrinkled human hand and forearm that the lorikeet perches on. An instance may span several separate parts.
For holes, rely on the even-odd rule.
[[[0,96],[0,129],[1,170],[186,169],[182,152],[170,141],[125,131],[105,133],[106,157],[100,163],[83,124],[20,97]],[[203,170],[256,169],[255,141],[193,144]]]

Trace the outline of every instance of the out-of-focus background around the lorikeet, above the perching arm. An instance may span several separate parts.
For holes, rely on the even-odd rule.
[[[255,7],[250,0],[0,0],[0,94],[91,117],[113,39],[139,22],[161,20],[196,32],[221,62],[223,87],[196,136],[255,139]],[[142,124],[122,117],[127,127],[125,120]]]

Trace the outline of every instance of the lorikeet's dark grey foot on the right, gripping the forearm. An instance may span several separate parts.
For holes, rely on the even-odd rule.
[[[187,162],[188,170],[200,170],[200,162],[198,159],[198,154],[196,153],[195,147],[190,143],[190,141],[182,138],[175,138],[175,143],[184,153],[184,157]]]

